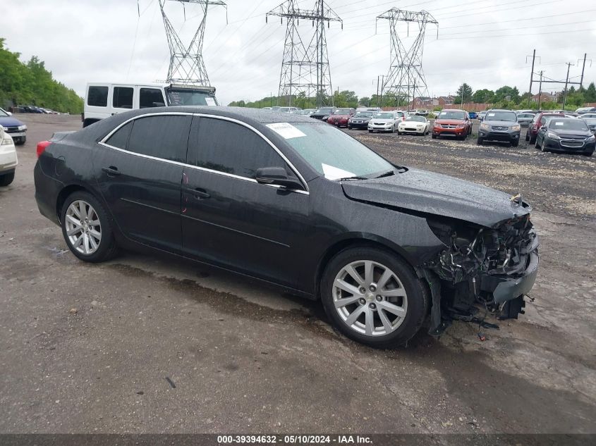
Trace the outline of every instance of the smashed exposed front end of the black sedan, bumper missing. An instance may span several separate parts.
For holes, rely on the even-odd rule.
[[[431,335],[440,335],[454,319],[480,322],[474,304],[499,319],[523,314],[523,297],[538,270],[539,243],[529,213],[492,228],[434,216],[427,223],[445,244],[422,265],[432,295]]]

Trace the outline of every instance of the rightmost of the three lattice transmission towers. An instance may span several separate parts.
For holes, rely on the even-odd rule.
[[[382,85],[382,95],[394,97],[398,101],[398,106],[399,101],[404,98],[407,98],[406,103],[409,103],[410,96],[414,98],[416,92],[418,92],[419,97],[427,96],[426,78],[422,72],[422,49],[426,25],[428,23],[437,25],[438,37],[439,23],[426,11],[415,13],[398,8],[385,11],[377,16],[377,22],[379,19],[389,20],[391,34],[391,65]],[[418,37],[415,38],[409,49],[406,49],[406,46],[399,38],[397,29],[399,22],[406,23],[408,36],[410,35],[410,22],[418,25]]]

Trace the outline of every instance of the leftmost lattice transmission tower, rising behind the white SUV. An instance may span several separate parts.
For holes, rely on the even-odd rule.
[[[159,8],[162,10],[164,18],[164,27],[166,27],[166,37],[170,48],[170,67],[168,68],[168,78],[166,82],[174,82],[186,85],[209,85],[209,77],[203,62],[202,48],[203,37],[205,37],[205,22],[207,20],[207,8],[212,5],[224,6],[226,3],[221,0],[169,0],[181,3],[186,20],[186,4],[199,4],[202,8],[202,20],[197,28],[193,39],[186,47],[178,33],[172,26],[164,6],[166,0],[159,0]]]

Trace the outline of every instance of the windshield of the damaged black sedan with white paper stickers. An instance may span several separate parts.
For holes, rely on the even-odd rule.
[[[318,173],[329,180],[374,178],[394,166],[353,137],[324,123],[293,123],[303,136],[286,141]]]

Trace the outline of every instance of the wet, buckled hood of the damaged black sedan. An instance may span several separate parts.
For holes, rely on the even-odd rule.
[[[487,228],[531,210],[505,192],[413,168],[375,180],[346,181],[342,187],[351,199],[458,218]]]

